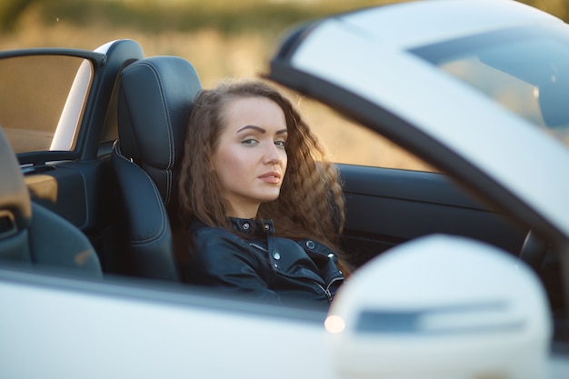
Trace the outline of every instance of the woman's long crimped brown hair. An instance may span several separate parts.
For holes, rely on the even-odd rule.
[[[339,268],[348,274],[350,266],[339,248],[344,193],[336,166],[326,160],[324,147],[292,103],[262,81],[226,81],[197,95],[186,129],[179,176],[182,220],[189,226],[197,218],[234,232],[227,218],[229,204],[211,167],[226,124],[225,105],[242,97],[265,97],[279,105],[288,134],[288,165],[279,197],[260,204],[257,217],[272,219],[278,236],[311,238],[332,248],[338,254]]]

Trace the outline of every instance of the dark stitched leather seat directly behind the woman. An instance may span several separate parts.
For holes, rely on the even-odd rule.
[[[176,167],[195,95],[193,65],[154,56],[125,67],[113,166],[125,206],[127,274],[178,281],[173,246]]]

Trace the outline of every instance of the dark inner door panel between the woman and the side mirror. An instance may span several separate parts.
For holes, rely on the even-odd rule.
[[[441,173],[339,165],[344,179],[344,251],[356,266],[426,234],[453,234],[518,254],[525,232]]]

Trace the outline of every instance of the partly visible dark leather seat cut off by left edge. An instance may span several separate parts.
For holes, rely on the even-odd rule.
[[[0,259],[87,277],[103,276],[88,238],[31,201],[12,146],[0,128]]]

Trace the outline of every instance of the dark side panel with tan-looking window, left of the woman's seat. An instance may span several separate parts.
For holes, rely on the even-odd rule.
[[[0,54],[0,125],[25,174],[32,200],[62,215],[94,244],[106,272],[114,261],[116,80],[143,57],[134,41],[95,51],[25,49]]]

